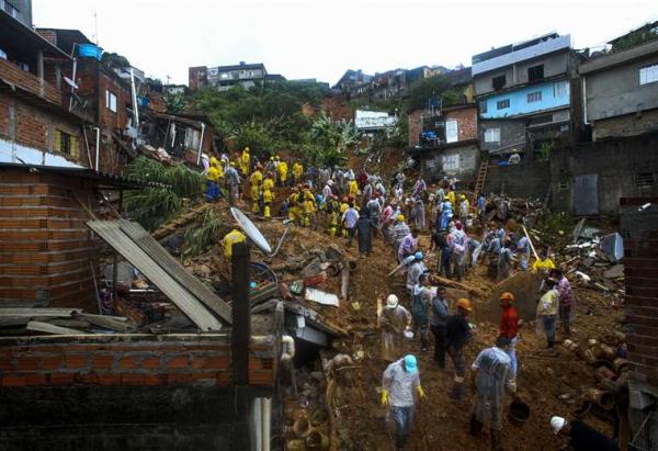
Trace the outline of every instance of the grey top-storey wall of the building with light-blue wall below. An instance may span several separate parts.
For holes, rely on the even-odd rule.
[[[568,74],[569,52],[560,52],[544,56],[542,58],[521,61],[514,66],[508,66],[500,70],[492,70],[474,77],[475,94],[485,95],[496,92],[491,80],[498,76],[506,76],[503,89],[527,83],[527,69],[530,67],[544,65],[544,78],[552,78],[563,74]]]

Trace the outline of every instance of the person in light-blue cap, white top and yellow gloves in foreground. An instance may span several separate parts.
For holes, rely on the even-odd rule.
[[[404,359],[390,363],[382,376],[382,405],[389,406],[395,421],[395,446],[404,450],[411,432],[416,395],[420,401],[426,398],[420,385],[416,357],[405,356]]]

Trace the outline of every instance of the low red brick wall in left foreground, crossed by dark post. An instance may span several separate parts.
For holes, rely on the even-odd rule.
[[[134,339],[135,337],[133,337]],[[9,340],[9,339],[7,339]],[[274,341],[252,343],[249,385],[273,386]],[[0,385],[230,385],[228,336],[177,336],[159,341],[121,337],[50,337],[29,343],[0,341]]]

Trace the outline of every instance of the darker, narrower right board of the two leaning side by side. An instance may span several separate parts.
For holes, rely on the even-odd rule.
[[[120,221],[121,229],[146,253],[160,264],[160,267],[174,280],[181,283],[190,293],[194,294],[206,307],[215,312],[222,319],[230,324],[231,308],[219,296],[213,293],[194,275],[190,274],[177,259],[171,257],[148,232],[139,224],[131,221]]]

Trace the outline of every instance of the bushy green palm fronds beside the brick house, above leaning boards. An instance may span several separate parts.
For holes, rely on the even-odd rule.
[[[166,166],[148,157],[138,157],[128,164],[126,176],[166,184],[126,194],[128,217],[147,230],[155,230],[175,216],[183,206],[183,199],[197,200],[203,192],[204,178],[200,172],[183,165]]]

